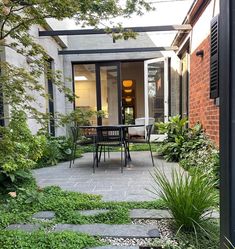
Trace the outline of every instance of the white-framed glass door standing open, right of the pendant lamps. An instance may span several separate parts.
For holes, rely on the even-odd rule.
[[[146,124],[168,121],[168,58],[145,61],[145,118]]]

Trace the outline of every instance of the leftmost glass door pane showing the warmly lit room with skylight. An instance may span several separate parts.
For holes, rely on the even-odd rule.
[[[95,64],[74,65],[74,91],[78,96],[75,108],[97,110]],[[96,125],[97,118],[92,117],[90,123]]]

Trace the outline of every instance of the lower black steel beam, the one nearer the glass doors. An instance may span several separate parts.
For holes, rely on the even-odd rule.
[[[116,48],[116,49],[83,49],[83,50],[60,50],[62,55],[68,54],[111,54],[111,53],[129,53],[129,52],[154,52],[154,51],[175,51],[178,47],[147,47],[147,48]]]

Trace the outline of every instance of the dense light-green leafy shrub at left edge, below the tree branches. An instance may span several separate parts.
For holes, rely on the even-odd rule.
[[[1,127],[0,134],[0,188],[5,188],[27,178],[25,170],[32,168],[42,156],[45,139],[32,135],[23,111],[13,111],[9,126]]]

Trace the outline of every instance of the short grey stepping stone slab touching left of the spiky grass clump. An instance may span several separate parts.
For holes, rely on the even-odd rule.
[[[172,219],[168,210],[157,209],[132,209],[130,211],[131,219]]]

